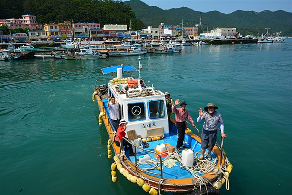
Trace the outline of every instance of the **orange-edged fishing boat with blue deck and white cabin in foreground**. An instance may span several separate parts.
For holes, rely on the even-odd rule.
[[[187,128],[186,149],[175,151],[178,139],[176,121],[168,118],[165,94],[154,88],[153,84],[151,87],[150,81],[147,84],[143,81],[141,58],[138,59],[138,78],[133,74],[138,71],[133,66],[103,68],[103,74],[110,74],[111,77],[96,80],[92,94],[93,102],[97,102],[100,110],[99,125],[104,123],[109,135],[105,150],[108,151],[108,158],[113,157],[114,160],[111,164],[112,181],[125,176],[129,182],[138,184],[151,195],[160,195],[161,192],[219,195],[224,183],[228,190],[232,165],[223,151],[224,138],[221,145],[216,144],[213,148],[212,160],[200,160],[200,132],[196,128],[196,135]],[[107,106],[109,96],[115,97],[120,118],[128,123],[125,141],[133,147],[134,155],[124,150],[123,140],[119,140],[114,131]],[[121,147],[117,146],[117,139]],[[121,174],[118,175],[117,170]]]

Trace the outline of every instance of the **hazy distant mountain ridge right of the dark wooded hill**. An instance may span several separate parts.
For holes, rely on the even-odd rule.
[[[157,27],[160,23],[165,25],[180,25],[193,27],[200,22],[200,11],[194,11],[187,7],[177,9],[162,10],[156,6],[148,6],[140,0],[125,1],[147,26]],[[201,5],[198,5],[198,10]],[[231,14],[224,14],[218,11],[202,13],[202,28],[199,32],[210,31],[213,28],[237,28],[243,35],[265,33],[265,28],[270,28],[269,32],[280,32],[281,35],[292,36],[292,13],[282,10],[271,11],[241,11],[237,10]]]

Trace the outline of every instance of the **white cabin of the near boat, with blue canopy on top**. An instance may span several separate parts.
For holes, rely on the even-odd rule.
[[[103,69],[104,74],[113,74],[113,79],[108,82],[108,94],[114,96],[119,104],[120,118],[128,122],[127,131],[135,130],[136,135],[167,137],[165,94],[150,87],[150,83],[144,83],[142,78],[136,78],[133,71],[137,69],[123,65]]]

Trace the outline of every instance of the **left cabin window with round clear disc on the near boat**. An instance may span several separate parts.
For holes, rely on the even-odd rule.
[[[129,121],[144,120],[145,104],[143,102],[128,104],[128,118]]]

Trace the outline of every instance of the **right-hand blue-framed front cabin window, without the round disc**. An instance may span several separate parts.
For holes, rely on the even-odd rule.
[[[164,101],[154,100],[148,102],[149,118],[162,118],[165,116]]]

